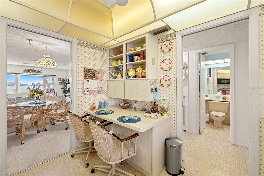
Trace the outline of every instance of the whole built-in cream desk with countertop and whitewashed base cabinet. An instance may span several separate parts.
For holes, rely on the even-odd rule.
[[[107,106],[109,110],[114,111],[113,114],[97,115],[96,111],[84,110],[98,121],[107,120],[113,122],[108,129],[114,134],[129,136],[138,133],[136,155],[125,160],[126,163],[139,170],[141,173],[149,176],[156,176],[165,167],[166,164],[166,146],[164,140],[171,134],[171,116],[159,116],[156,119],[146,118],[143,116],[144,111],[133,111],[131,108],[122,109],[119,105]],[[105,110],[102,108],[101,110]],[[120,116],[138,116],[140,122],[122,123],[117,121]],[[107,122],[106,122],[107,123]]]

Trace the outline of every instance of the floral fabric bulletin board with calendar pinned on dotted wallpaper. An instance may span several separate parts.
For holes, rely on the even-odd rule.
[[[83,95],[102,94],[103,88],[97,87],[97,81],[103,81],[103,70],[83,67]]]

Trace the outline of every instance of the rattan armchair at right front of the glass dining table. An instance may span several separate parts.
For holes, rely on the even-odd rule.
[[[65,130],[68,130],[69,123],[67,121],[68,113],[66,110],[70,109],[70,102],[64,103],[62,105],[55,104],[50,109],[43,109],[44,112],[44,131],[47,131],[46,126],[47,124],[52,123],[52,125],[55,125],[55,122],[64,122],[66,123]],[[51,122],[46,122],[46,119],[50,118],[52,119]],[[63,120],[59,120],[58,118],[63,118]]]

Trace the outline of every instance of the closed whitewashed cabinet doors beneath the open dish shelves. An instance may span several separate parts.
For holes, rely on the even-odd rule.
[[[118,79],[107,82],[107,97],[136,101],[154,101],[149,82],[151,79]],[[154,80],[152,79],[152,82]],[[157,80],[156,80],[157,82]],[[153,85],[154,89],[154,85]]]

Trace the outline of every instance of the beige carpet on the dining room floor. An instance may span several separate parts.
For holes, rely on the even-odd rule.
[[[63,122],[54,126],[48,124],[47,131],[38,134],[37,128],[27,129],[23,145],[20,144],[20,134],[7,135],[7,174],[18,173],[69,152],[70,120],[68,122],[68,130]],[[13,128],[7,130],[11,132]]]

